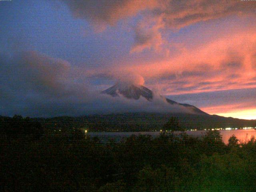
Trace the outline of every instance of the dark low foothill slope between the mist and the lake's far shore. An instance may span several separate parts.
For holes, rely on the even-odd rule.
[[[256,127],[256,120],[243,120],[217,115],[179,113],[122,113],[80,117],[34,118],[44,128],[87,128],[90,131],[152,131],[161,130],[171,117],[177,117],[184,129]]]

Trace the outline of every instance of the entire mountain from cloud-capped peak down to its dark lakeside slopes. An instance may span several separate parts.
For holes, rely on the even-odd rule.
[[[138,81],[136,81],[138,82]],[[43,126],[56,124],[66,127],[88,127],[90,131],[152,131],[162,130],[164,124],[171,117],[179,120],[180,126],[185,130],[208,130],[212,128],[242,128],[256,127],[256,120],[242,120],[232,117],[222,117],[210,115],[195,106],[182,104],[170,100],[164,96],[159,96],[156,92],[146,88],[143,84],[133,82],[118,82],[114,86],[102,91],[112,97],[123,97],[131,100],[131,107],[138,105],[135,110],[128,112],[111,112],[106,114],[90,114],[79,117],[55,117],[36,118]],[[143,98],[140,100],[140,98]],[[115,99],[113,99],[115,102]],[[113,101],[111,100],[111,102]],[[117,103],[120,100],[117,100]],[[135,101],[135,102],[134,102]],[[140,101],[142,108],[140,108]],[[122,100],[123,102],[123,100]],[[129,102],[124,102],[129,104]],[[118,103],[120,104],[120,103]],[[122,107],[122,106],[121,106]],[[144,109],[154,109],[157,111],[143,111]],[[168,110],[166,110],[166,108]],[[178,110],[177,110],[178,109]],[[57,122],[57,123],[56,123]]]

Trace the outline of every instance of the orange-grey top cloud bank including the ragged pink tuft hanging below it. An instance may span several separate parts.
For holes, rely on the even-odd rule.
[[[102,31],[141,13],[135,28],[131,52],[144,49],[156,50],[162,45],[162,30],[179,30],[198,22],[206,22],[227,16],[255,16],[256,3],[240,0],[62,0],[75,18],[86,19]],[[153,20],[153,22],[152,22]],[[142,28],[141,25],[144,25]]]

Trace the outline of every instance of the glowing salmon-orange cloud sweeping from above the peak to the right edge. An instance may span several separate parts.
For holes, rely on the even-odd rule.
[[[156,61],[122,60],[90,74],[137,73],[150,87],[163,94],[185,94],[256,87],[256,33],[229,34],[212,42],[186,48],[179,54]]]

